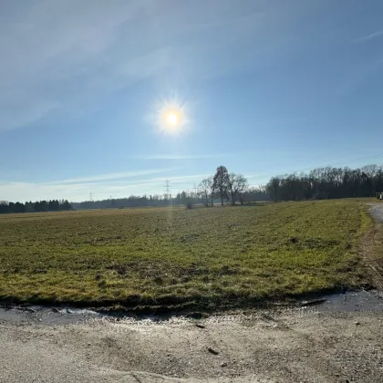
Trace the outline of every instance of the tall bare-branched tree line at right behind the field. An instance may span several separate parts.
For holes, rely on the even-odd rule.
[[[273,177],[265,186],[273,201],[375,197],[383,191],[383,166],[317,168]]]

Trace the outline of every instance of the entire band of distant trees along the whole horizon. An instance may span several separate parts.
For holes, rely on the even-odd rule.
[[[225,172],[218,190],[218,170]],[[223,183],[224,185],[223,188]],[[236,182],[236,183],[235,183]],[[236,191],[233,185],[236,186]],[[224,190],[223,190],[224,189]],[[247,180],[237,174],[217,168],[214,177],[202,180],[198,188],[175,195],[155,194],[102,201],[68,202],[0,202],[0,214],[9,212],[59,212],[78,209],[117,209],[140,206],[190,205],[209,202],[248,203],[261,201],[302,201],[337,198],[375,197],[383,191],[383,166],[367,165],[359,169],[318,168],[308,173],[291,173],[273,177],[266,185],[249,187]]]

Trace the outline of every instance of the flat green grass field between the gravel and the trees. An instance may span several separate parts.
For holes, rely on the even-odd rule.
[[[0,300],[251,305],[363,280],[361,202],[0,216]]]

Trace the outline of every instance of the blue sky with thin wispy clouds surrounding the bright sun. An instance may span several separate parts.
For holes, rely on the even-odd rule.
[[[383,163],[381,0],[3,1],[0,51],[0,200]]]

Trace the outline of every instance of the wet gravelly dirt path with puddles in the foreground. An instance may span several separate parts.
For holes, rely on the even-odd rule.
[[[199,321],[98,317],[84,322],[78,316],[82,323],[52,326],[47,317],[57,315],[3,310],[0,382],[374,383],[383,378],[383,301],[364,292],[338,295],[323,305]]]

